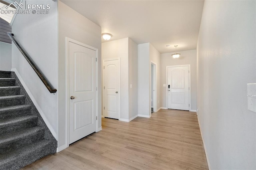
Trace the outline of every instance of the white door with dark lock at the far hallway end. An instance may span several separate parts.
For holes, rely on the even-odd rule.
[[[168,67],[168,109],[189,110],[189,66]]]

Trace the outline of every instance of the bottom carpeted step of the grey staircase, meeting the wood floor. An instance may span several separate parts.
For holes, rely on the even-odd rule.
[[[40,140],[22,148],[0,154],[0,167],[3,170],[18,170],[32,162],[56,152],[55,144],[49,140]],[[55,146],[56,147],[56,146]]]

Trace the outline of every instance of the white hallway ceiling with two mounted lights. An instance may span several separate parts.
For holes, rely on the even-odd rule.
[[[112,34],[111,40],[150,42],[160,53],[174,52],[174,45],[177,51],[196,49],[204,0],[61,1]]]

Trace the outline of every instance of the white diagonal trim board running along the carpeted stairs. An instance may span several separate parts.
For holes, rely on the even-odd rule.
[[[18,79],[20,80],[20,83],[22,84],[22,86],[24,87],[25,91],[28,93],[28,96],[30,97],[31,101],[33,102],[33,104],[35,105],[36,109],[38,110],[38,112],[40,113],[42,119],[44,120],[44,123],[46,124],[46,126],[49,128],[50,132],[52,133],[52,135],[54,136],[55,139],[57,139],[57,135],[56,132],[54,131],[54,129],[52,128],[52,126],[50,125],[50,123],[48,122],[48,120],[46,119],[44,112],[42,111],[42,109],[40,108],[40,106],[38,105],[38,103],[36,102],[36,99],[34,98],[34,96],[32,95],[32,93],[30,92],[30,90],[28,89],[28,86],[26,85],[26,83],[23,81],[23,79],[21,78],[20,74],[18,73],[18,70],[16,68],[12,68],[11,71],[14,71],[14,73],[16,74],[16,76],[18,77]]]

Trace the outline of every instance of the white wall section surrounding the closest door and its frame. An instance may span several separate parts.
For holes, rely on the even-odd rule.
[[[85,43],[98,49],[99,115],[101,117],[101,28],[58,1],[58,147],[66,145],[66,40]],[[101,127],[101,119],[99,128]]]

